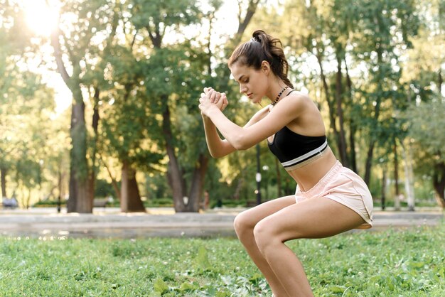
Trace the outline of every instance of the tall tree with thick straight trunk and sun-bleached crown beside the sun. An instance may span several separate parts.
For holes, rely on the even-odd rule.
[[[70,18],[68,18],[68,15]],[[70,137],[70,198],[68,212],[92,212],[92,186],[87,160],[87,126],[82,87],[90,46],[97,32],[110,33],[109,3],[105,0],[63,1],[58,30],[51,35],[57,69],[73,94]]]

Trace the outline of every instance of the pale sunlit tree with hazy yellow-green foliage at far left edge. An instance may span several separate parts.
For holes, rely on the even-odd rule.
[[[49,120],[53,94],[41,76],[28,68],[35,55],[25,53],[34,45],[21,6],[0,3],[0,174],[1,197],[8,197],[7,176],[15,188],[23,185],[28,193],[41,185],[41,156],[48,130],[35,123]]]

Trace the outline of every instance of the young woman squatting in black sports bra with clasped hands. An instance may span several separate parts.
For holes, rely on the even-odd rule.
[[[363,180],[343,167],[329,148],[316,105],[293,90],[279,39],[255,31],[250,41],[235,49],[228,66],[242,94],[253,103],[267,97],[271,104],[241,127],[223,114],[225,94],[205,88],[199,108],[210,154],[220,158],[267,139],[297,183],[295,195],[237,215],[235,231],[274,296],[313,296],[301,262],[284,242],[370,228],[372,197]]]

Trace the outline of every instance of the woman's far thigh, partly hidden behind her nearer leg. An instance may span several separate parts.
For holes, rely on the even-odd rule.
[[[243,212],[240,212],[240,214],[237,215],[235,218],[235,228],[240,227],[239,225],[242,225],[242,227],[254,227],[257,225],[257,222],[260,220],[263,220],[264,217],[268,217],[269,215],[274,214],[275,212],[278,212],[279,210],[282,210],[286,207],[289,207],[289,205],[295,204],[295,196],[284,196],[282,198],[277,198],[274,200],[270,200],[267,202],[264,202],[260,205],[257,205],[255,207],[252,207],[248,210],[245,210]]]

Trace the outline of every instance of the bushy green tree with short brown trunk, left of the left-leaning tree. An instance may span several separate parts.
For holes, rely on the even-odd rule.
[[[144,87],[144,63],[132,53],[132,48],[115,45],[107,63],[107,80],[112,89],[104,94],[112,102],[104,107],[102,155],[117,155],[122,163],[120,205],[123,212],[141,212],[136,171],[156,171],[163,158],[158,149],[160,129],[150,112],[151,102]]]

